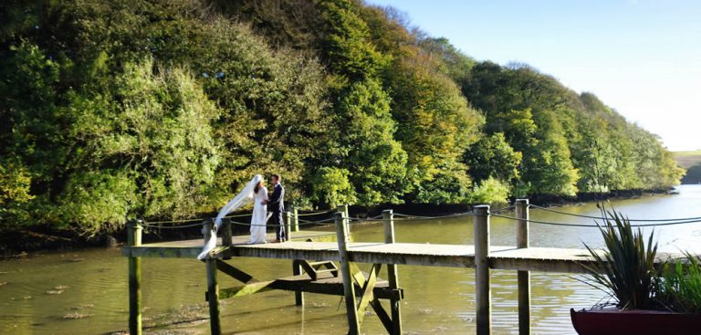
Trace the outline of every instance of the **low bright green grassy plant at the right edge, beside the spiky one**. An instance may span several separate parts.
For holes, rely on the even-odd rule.
[[[686,252],[685,257],[667,262],[657,298],[675,312],[701,313],[701,258]]]

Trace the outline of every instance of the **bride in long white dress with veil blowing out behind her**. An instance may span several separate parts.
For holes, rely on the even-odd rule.
[[[265,200],[267,200],[267,189],[263,186],[263,176],[256,174],[250,182],[246,183],[244,189],[239,194],[236,194],[216,215],[212,234],[204,244],[202,252],[197,256],[197,259],[204,259],[209,256],[209,253],[216,246],[216,232],[222,226],[222,219],[236,209],[250,204],[251,201],[254,201],[255,204],[253,205],[253,215],[251,217],[250,243],[266,243],[267,205],[263,204]]]

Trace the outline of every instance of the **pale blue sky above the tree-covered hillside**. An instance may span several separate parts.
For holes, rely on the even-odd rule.
[[[478,60],[590,91],[673,151],[701,149],[701,1],[367,0]]]

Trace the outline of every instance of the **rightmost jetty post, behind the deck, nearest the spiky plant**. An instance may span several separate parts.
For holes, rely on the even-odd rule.
[[[528,199],[516,200],[516,246],[528,247]],[[518,334],[530,334],[530,271],[518,271]]]

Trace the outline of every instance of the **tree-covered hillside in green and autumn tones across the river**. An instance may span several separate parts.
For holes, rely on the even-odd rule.
[[[477,62],[392,8],[13,0],[0,23],[0,227],[193,217],[255,173],[280,173],[306,206],[664,188],[683,173],[594,94]]]

